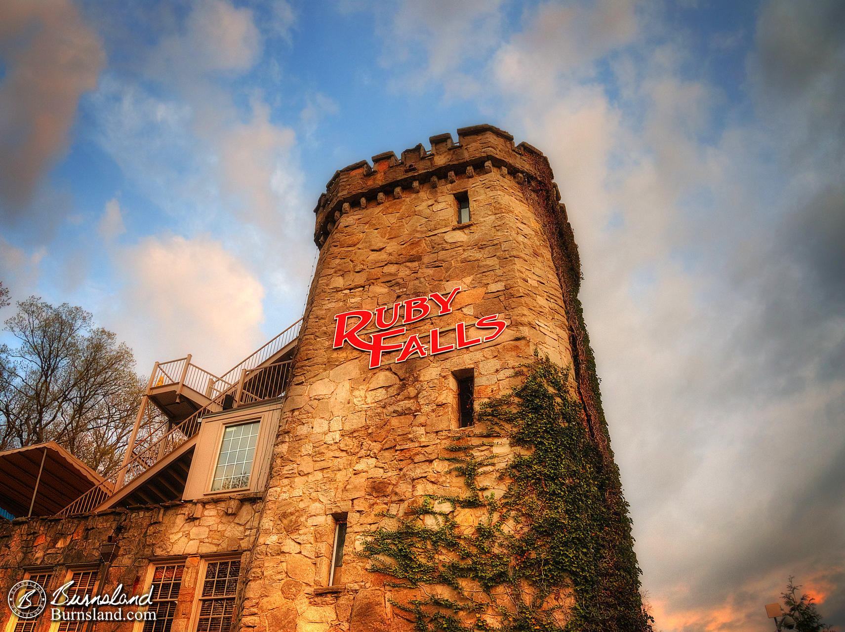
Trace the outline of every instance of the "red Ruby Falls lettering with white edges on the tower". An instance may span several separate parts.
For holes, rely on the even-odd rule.
[[[339,313],[335,316],[335,341],[333,348],[340,349],[346,342],[361,351],[369,351],[369,368],[379,368],[382,357],[387,351],[400,351],[395,362],[405,362],[409,357],[436,356],[446,351],[455,349],[466,349],[468,346],[480,345],[482,342],[493,341],[502,335],[507,324],[499,319],[499,314],[482,316],[475,322],[477,330],[492,330],[483,335],[468,337],[466,323],[455,323],[455,342],[445,343],[441,341],[439,327],[428,330],[425,334],[412,334],[402,341],[390,341],[406,335],[406,325],[416,323],[430,316],[443,316],[451,313],[452,302],[455,300],[461,287],[455,287],[450,291],[448,297],[439,292],[433,291],[427,297],[408,298],[405,301],[393,303],[390,311],[390,319],[387,316],[387,306],[375,308],[374,311],[367,309],[353,309],[351,312]],[[357,320],[356,320],[357,319]],[[362,332],[374,323],[378,331],[370,335],[363,335]],[[450,331],[453,328],[450,328]],[[423,336],[422,339],[420,336]],[[423,341],[427,341],[424,344]]]

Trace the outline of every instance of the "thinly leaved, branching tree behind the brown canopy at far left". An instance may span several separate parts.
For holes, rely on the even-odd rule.
[[[108,476],[145,386],[132,351],[82,308],[39,297],[17,306],[3,328],[16,342],[0,345],[0,450],[52,440]]]

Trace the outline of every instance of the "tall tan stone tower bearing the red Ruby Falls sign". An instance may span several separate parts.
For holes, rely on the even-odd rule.
[[[548,161],[489,125],[429,140],[335,172],[314,210],[319,263],[237,627],[555,629],[575,617],[578,629],[646,629]],[[567,500],[555,518],[561,537],[581,529],[577,546],[560,541],[573,555],[553,550],[554,533],[523,538],[530,520],[496,504],[531,439],[480,422],[546,357],[595,456],[578,467],[597,503],[579,517]],[[466,500],[479,489],[489,500]],[[412,551],[391,557],[403,542]],[[548,556],[557,579],[531,570]]]

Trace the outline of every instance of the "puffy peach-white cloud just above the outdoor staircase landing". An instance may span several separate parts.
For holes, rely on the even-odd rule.
[[[112,329],[144,362],[194,354],[220,375],[263,339],[264,286],[210,237],[147,237],[115,253],[123,288]]]

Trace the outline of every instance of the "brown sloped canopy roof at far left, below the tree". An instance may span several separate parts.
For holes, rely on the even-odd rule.
[[[101,482],[55,441],[0,452],[0,508],[17,517],[30,514],[33,495],[32,515],[55,515]]]

